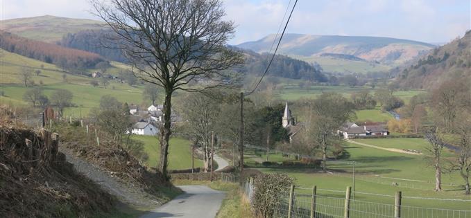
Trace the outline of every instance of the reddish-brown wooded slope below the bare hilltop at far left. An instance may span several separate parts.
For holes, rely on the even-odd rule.
[[[105,61],[95,53],[26,39],[4,31],[0,31],[0,48],[35,60],[55,64],[63,69],[92,68],[99,62]]]

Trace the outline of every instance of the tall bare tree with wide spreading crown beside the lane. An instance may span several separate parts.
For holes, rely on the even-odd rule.
[[[222,20],[225,12],[219,0],[107,2],[92,0],[96,15],[118,36],[114,48],[126,54],[137,77],[164,89],[159,170],[166,177],[172,94],[237,82],[239,74],[228,69],[242,62],[241,55],[225,46],[234,24]],[[192,80],[204,82],[187,86]]]

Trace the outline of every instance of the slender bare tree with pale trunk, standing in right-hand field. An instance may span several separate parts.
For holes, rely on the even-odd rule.
[[[426,137],[430,143],[427,150],[431,153],[431,165],[435,168],[435,191],[438,192],[442,190],[442,167],[440,158],[443,151],[443,140],[436,127],[429,129]]]

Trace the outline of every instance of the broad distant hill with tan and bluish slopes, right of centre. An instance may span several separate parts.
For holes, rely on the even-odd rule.
[[[264,53],[269,51],[274,38],[275,35],[268,35],[255,42],[239,44],[237,47]],[[375,64],[389,67],[397,66],[413,60],[432,48],[434,48],[432,44],[388,37],[286,34],[282,39],[279,51],[280,54],[309,62],[321,60],[319,62],[321,66],[323,66],[323,58],[326,57],[323,54],[336,54],[334,55],[336,57],[327,55],[330,56],[330,59],[339,59],[339,57],[345,59],[343,57],[351,57],[346,55],[352,55],[372,63],[370,64],[371,68],[367,67],[366,71],[377,71],[378,69],[374,69]],[[353,62],[359,61],[350,60]],[[382,67],[381,70],[384,71],[387,68]]]

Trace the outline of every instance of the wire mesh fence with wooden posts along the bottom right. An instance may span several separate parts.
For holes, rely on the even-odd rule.
[[[252,194],[256,192],[250,181],[243,183],[243,192],[251,201]],[[420,197],[402,197],[402,194],[387,195],[379,194],[382,197],[388,197],[391,203],[379,203],[352,199],[350,194],[354,193],[347,188],[340,190],[323,190],[311,188],[312,193],[304,193],[307,188],[294,189],[292,193],[284,193],[281,204],[275,210],[274,217],[289,218],[334,218],[334,217],[352,217],[352,218],[374,218],[374,217],[405,217],[405,218],[471,218],[471,200],[456,199],[457,201],[466,201],[470,204],[470,210],[452,210],[446,208],[427,208],[402,204],[402,198],[405,199],[424,199]],[[322,193],[319,193],[319,192]],[[334,194],[329,194],[329,192]],[[357,194],[375,194],[366,192],[355,192]],[[343,194],[344,197],[339,197]],[[336,196],[336,197],[333,197]],[[454,200],[454,199],[440,199]],[[438,204],[439,205],[439,204]]]

